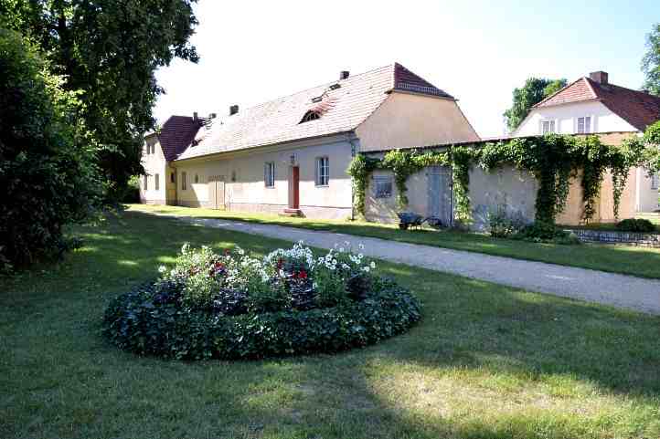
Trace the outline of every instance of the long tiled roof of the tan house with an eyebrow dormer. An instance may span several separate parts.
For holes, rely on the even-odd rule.
[[[392,91],[453,100],[442,89],[394,63],[213,120],[209,128],[197,133],[197,144],[178,159],[354,131]],[[309,110],[320,117],[301,123]]]

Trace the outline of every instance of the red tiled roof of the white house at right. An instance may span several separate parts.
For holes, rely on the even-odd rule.
[[[660,120],[660,97],[614,84],[601,84],[591,78],[580,78],[570,83],[533,108],[585,100],[600,100],[605,107],[639,131],[644,131],[648,125]]]

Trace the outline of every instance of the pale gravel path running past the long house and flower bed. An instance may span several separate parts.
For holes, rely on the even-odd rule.
[[[414,267],[487,280],[564,298],[631,308],[660,315],[660,280],[605,273],[585,268],[564,267],[543,262],[524,261],[502,256],[450,250],[435,246],[399,243],[385,239],[314,232],[282,225],[259,225],[223,219],[171,215],[194,225],[263,235],[306,245],[331,248],[335,243],[362,243],[366,256]],[[660,267],[658,268],[660,269]]]

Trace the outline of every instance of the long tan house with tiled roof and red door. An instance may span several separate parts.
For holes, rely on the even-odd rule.
[[[478,141],[456,99],[398,63],[145,138],[148,204],[343,219],[357,152]],[[391,192],[387,178],[380,187]]]

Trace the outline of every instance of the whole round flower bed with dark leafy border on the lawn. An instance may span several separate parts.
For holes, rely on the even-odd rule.
[[[112,300],[103,334],[124,350],[176,359],[365,346],[420,319],[418,300],[375,268],[343,247],[316,258],[299,243],[257,259],[183,246],[156,281]]]

